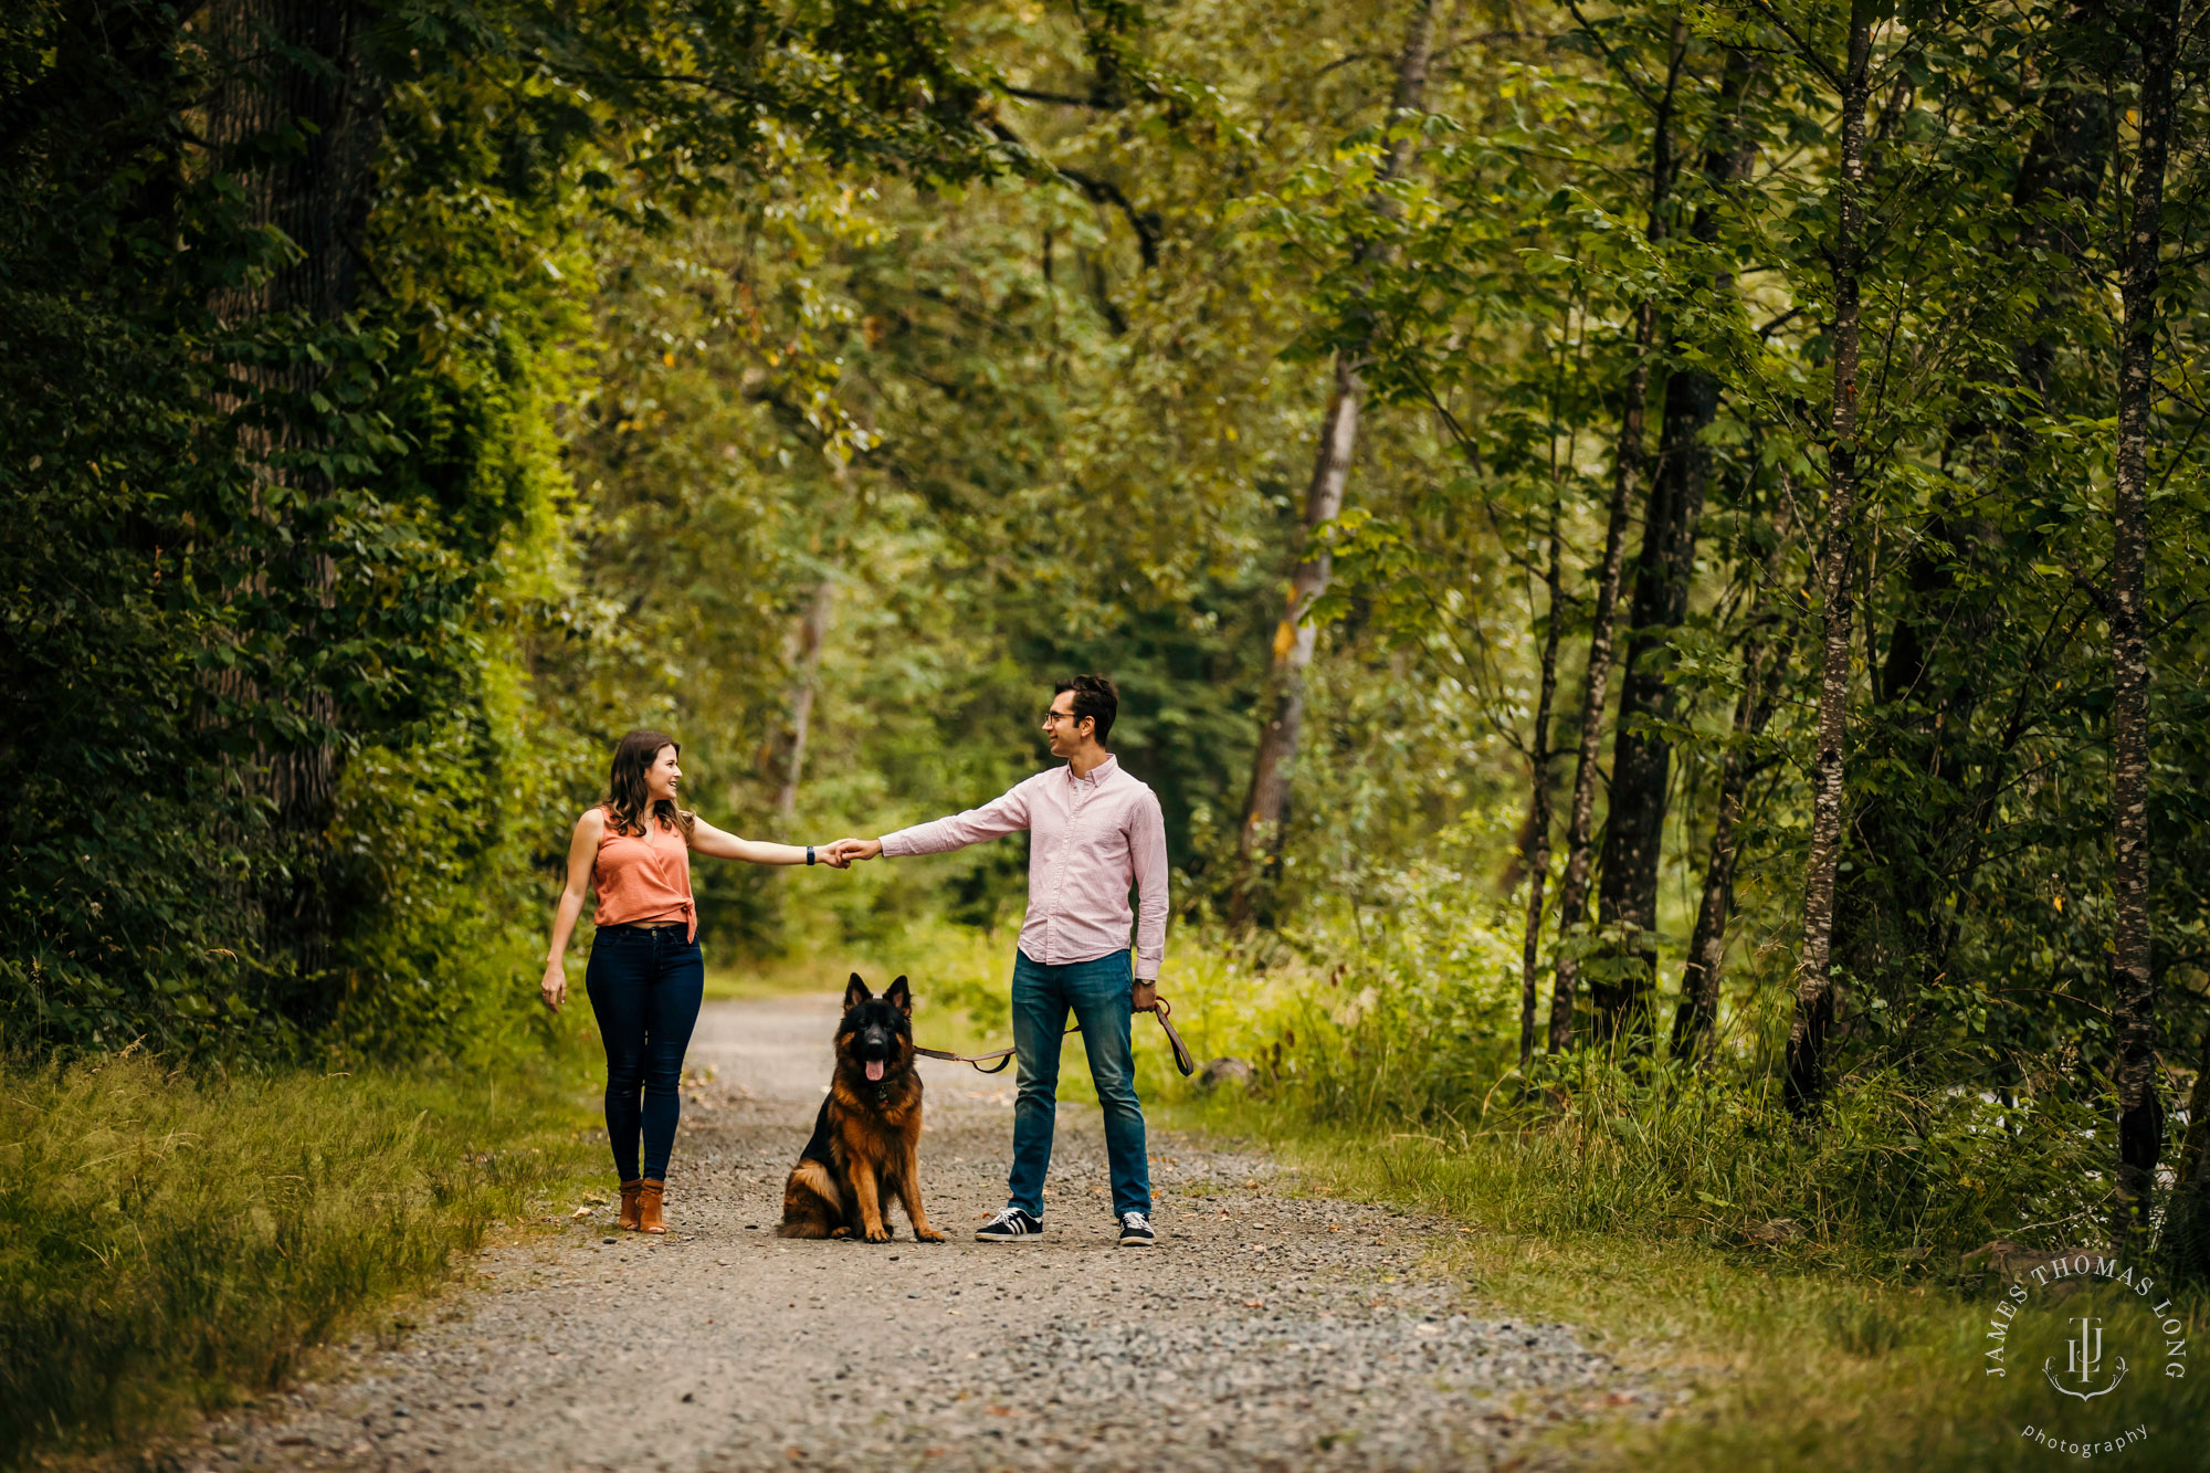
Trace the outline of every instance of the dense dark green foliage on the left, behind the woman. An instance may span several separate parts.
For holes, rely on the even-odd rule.
[[[325,58],[360,69],[376,146],[336,243],[267,223],[298,119],[197,137],[263,64],[221,27],[137,0],[0,22],[0,1044],[409,1055],[511,1028],[517,902],[579,798],[561,759],[636,719],[546,721],[559,681],[530,668],[601,621],[566,575],[561,422],[599,369],[599,252],[787,159],[1003,166],[933,9],[767,18],[365,11]],[[252,307],[298,272],[360,285]]]

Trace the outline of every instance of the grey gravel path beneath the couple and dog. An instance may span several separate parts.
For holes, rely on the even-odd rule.
[[[1666,1393],[1470,1303],[1448,1223],[1295,1194],[1264,1155],[1154,1130],[1160,1247],[1114,1247],[1096,1110],[1061,1110],[1045,1234],[983,1245],[1012,1086],[924,1062],[944,1245],[785,1243],[782,1177],[829,1079],[835,1000],[707,1004],[667,1183],[674,1232],[486,1250],[398,1349],[210,1422],[170,1469],[1490,1469],[1527,1435]]]

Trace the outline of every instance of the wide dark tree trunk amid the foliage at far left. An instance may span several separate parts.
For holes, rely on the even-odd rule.
[[[281,232],[296,254],[248,285],[217,294],[217,316],[241,330],[263,321],[336,323],[358,296],[360,234],[367,226],[376,148],[382,142],[382,80],[362,58],[369,11],[351,0],[217,0],[206,38],[217,69],[206,135],[214,166],[239,181],[250,223]],[[287,524],[298,551],[261,564],[261,595],[287,617],[290,664],[312,668],[336,604],[336,564],[320,551],[318,520],[329,487],[309,471],[283,469],[287,451],[320,440],[307,398],[323,383],[320,354],[234,365],[230,407],[254,405],[245,449],[267,484],[287,484]],[[261,721],[259,783],[287,834],[290,878],[263,898],[270,944],[287,951],[305,982],[329,967],[336,929],[327,827],[338,787],[336,694],[307,677],[287,690],[252,694],[274,719]],[[309,986],[305,1013],[327,997]],[[314,1017],[307,1017],[314,1022]]]

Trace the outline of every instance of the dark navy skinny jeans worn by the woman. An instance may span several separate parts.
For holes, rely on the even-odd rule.
[[[683,927],[599,927],[583,973],[606,1040],[606,1139],[623,1181],[667,1181],[705,958]],[[636,1163],[643,1137],[645,1161]]]

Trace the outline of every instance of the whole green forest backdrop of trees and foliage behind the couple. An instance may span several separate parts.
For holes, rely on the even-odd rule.
[[[2199,1272],[2206,15],[13,7],[0,1042],[535,1048],[623,730],[827,840],[1098,670],[1277,1101]],[[701,885],[926,975],[1023,852]]]

